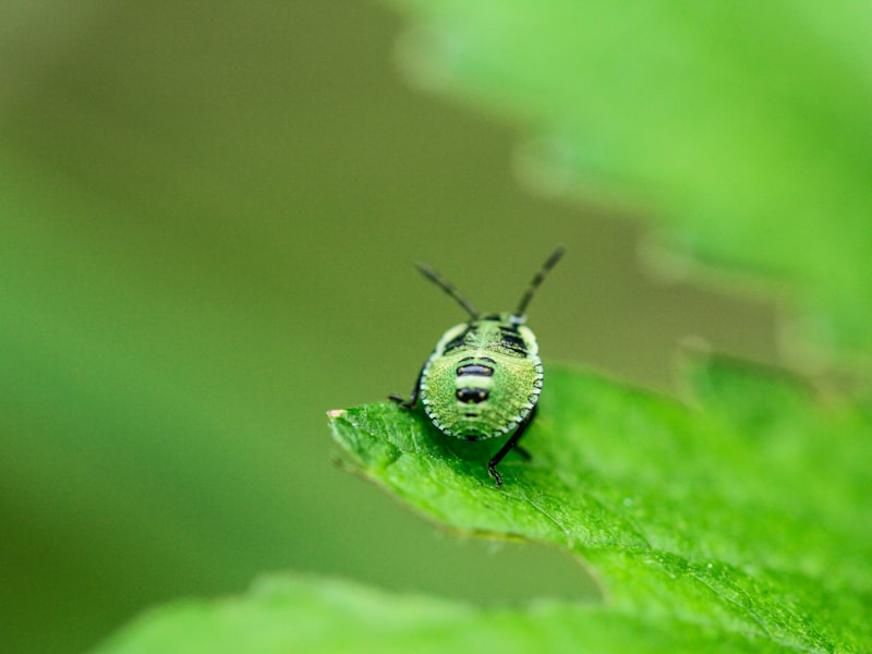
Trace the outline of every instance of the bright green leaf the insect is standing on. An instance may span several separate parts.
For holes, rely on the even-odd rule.
[[[332,425],[363,475],[431,520],[578,555],[603,613],[640,629],[869,651],[869,408],[724,362],[687,377],[690,404],[549,370],[524,438],[533,460],[508,458],[501,488],[493,447],[449,441],[393,404]]]

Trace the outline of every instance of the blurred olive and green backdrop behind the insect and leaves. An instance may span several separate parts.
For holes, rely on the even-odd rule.
[[[399,73],[365,2],[2,3],[0,649],[291,569],[476,602],[596,597],[331,464],[325,411],[408,392],[462,312],[668,391],[688,335],[777,363],[763,300],[652,278],[618,207],[536,197],[509,129]]]

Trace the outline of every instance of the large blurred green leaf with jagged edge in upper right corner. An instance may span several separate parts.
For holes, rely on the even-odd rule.
[[[415,81],[536,137],[521,170],[632,195],[669,250],[777,283],[807,336],[872,351],[870,5],[387,3]]]

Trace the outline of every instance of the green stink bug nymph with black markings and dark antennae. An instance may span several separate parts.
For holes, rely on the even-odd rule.
[[[389,396],[403,409],[424,404],[433,424],[447,436],[486,440],[511,433],[487,463],[487,471],[502,485],[497,465],[516,446],[536,413],[543,368],[538,343],[524,324],[528,304],[548,271],[564,256],[555,250],[530,282],[514,312],[481,315],[455,287],[428,266],[421,274],[443,289],[470,315],[441,337],[424,362],[412,395],[407,400]],[[518,451],[530,458],[526,450]]]

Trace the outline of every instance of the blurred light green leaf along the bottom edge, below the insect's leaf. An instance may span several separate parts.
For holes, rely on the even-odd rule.
[[[94,654],[349,652],[774,652],[770,642],[645,623],[601,606],[540,602],[528,613],[392,595],[349,582],[277,576],[242,597],[180,602],[143,616]],[[578,651],[578,650],[576,650]]]

